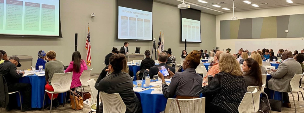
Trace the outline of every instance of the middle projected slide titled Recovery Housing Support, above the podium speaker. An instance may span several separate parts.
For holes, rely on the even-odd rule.
[[[118,39],[152,40],[152,12],[118,6]]]

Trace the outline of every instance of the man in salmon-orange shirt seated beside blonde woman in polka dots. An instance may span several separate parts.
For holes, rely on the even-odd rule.
[[[214,55],[214,60],[213,60],[215,62],[215,64],[213,64],[212,67],[208,70],[207,75],[212,75],[214,77],[215,74],[219,73],[219,57],[222,53],[224,53],[224,52],[222,52],[222,51],[216,52],[216,54]],[[203,78],[203,81],[205,81],[205,82],[208,81],[207,76],[205,76]]]

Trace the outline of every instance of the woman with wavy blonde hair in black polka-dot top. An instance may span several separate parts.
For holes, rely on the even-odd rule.
[[[206,113],[238,113],[238,107],[247,92],[240,64],[233,55],[221,54],[219,70],[209,85],[203,83],[201,93],[206,95]]]

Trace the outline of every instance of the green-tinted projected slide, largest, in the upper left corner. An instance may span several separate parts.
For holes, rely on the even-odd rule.
[[[0,0],[0,34],[59,36],[59,0]]]

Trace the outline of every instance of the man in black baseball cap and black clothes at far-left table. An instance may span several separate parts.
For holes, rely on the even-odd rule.
[[[4,61],[0,64],[0,74],[4,76],[9,92],[20,91],[23,93],[22,111],[30,111],[32,86],[30,84],[18,82],[18,78],[21,78],[22,75],[24,75],[24,72],[18,73],[17,67],[21,67],[19,58],[12,56],[8,61]],[[16,107],[16,95],[9,95],[9,105],[6,109],[10,111]]]

